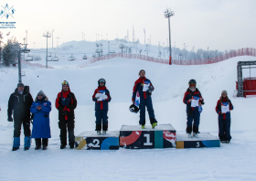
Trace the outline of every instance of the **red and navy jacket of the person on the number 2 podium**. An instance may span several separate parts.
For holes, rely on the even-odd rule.
[[[108,96],[108,98],[103,101],[97,101],[97,99],[95,98],[96,93],[105,93]],[[95,101],[95,111],[109,110],[109,102],[112,101],[110,91],[108,91],[106,87],[99,86],[98,89],[96,89],[92,95],[92,101]]]

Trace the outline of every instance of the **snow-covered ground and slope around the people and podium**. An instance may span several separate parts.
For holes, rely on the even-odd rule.
[[[0,180],[254,180],[256,176],[256,98],[233,98],[237,80],[237,62],[255,60],[237,57],[201,66],[168,66],[140,59],[109,59],[82,69],[38,69],[23,65],[23,82],[30,86],[33,98],[42,90],[52,102],[50,126],[52,138],[47,151],[29,151],[21,147],[12,152],[13,124],[7,122],[7,101],[16,89],[17,70],[0,69]],[[61,61],[59,61],[61,64]],[[75,64],[75,62],[74,62]],[[59,65],[59,68],[62,66]],[[58,67],[57,67],[58,68]],[[158,123],[171,123],[178,133],[185,133],[186,105],[183,96],[187,81],[197,80],[206,104],[203,106],[199,131],[218,136],[215,106],[220,92],[227,90],[234,105],[231,112],[230,144],[220,148],[152,149],[118,151],[79,151],[59,149],[58,111],[55,99],[61,82],[68,80],[78,100],[75,134],[95,129],[94,102],[91,100],[97,81],[104,78],[111,92],[109,130],[118,131],[123,124],[137,125],[139,114],[129,112],[133,83],[140,69],[155,86],[152,98]],[[249,70],[245,70],[245,77]],[[252,69],[251,76],[256,77]],[[146,123],[149,124],[148,118]]]

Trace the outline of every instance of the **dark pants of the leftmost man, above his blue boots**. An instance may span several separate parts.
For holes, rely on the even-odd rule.
[[[14,137],[19,137],[21,133],[21,125],[23,124],[24,135],[27,137],[31,136],[30,121],[29,119],[16,119],[14,121]]]

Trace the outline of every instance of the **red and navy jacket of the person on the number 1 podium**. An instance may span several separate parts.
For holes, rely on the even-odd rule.
[[[144,78],[139,78],[138,80],[135,81],[134,86],[133,86],[133,99],[132,101],[135,101],[136,93],[139,91],[140,93],[140,99],[147,99],[151,96],[151,94],[148,91],[143,91],[144,90],[144,83],[145,84],[150,84],[150,86],[153,87],[153,91],[155,90],[154,86],[152,85],[151,81]]]

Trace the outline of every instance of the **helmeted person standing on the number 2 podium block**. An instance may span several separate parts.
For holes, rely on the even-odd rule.
[[[101,121],[102,121],[102,134],[108,131],[108,111],[109,102],[112,100],[110,91],[105,87],[106,80],[98,80],[98,88],[92,95],[92,101],[95,101],[95,117],[96,117],[96,130],[97,134],[101,134]]]

